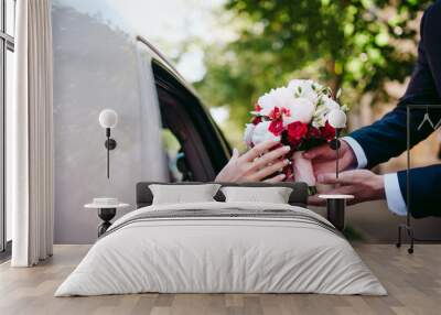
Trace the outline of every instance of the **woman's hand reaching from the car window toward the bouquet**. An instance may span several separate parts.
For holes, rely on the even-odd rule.
[[[270,150],[279,143],[279,141],[262,142],[241,155],[237,149],[234,149],[232,159],[219,172],[215,181],[260,182],[280,171],[289,164],[289,160],[283,159],[283,156],[290,151],[290,148],[281,146]],[[284,177],[284,174],[279,174],[263,182],[281,182]]]

